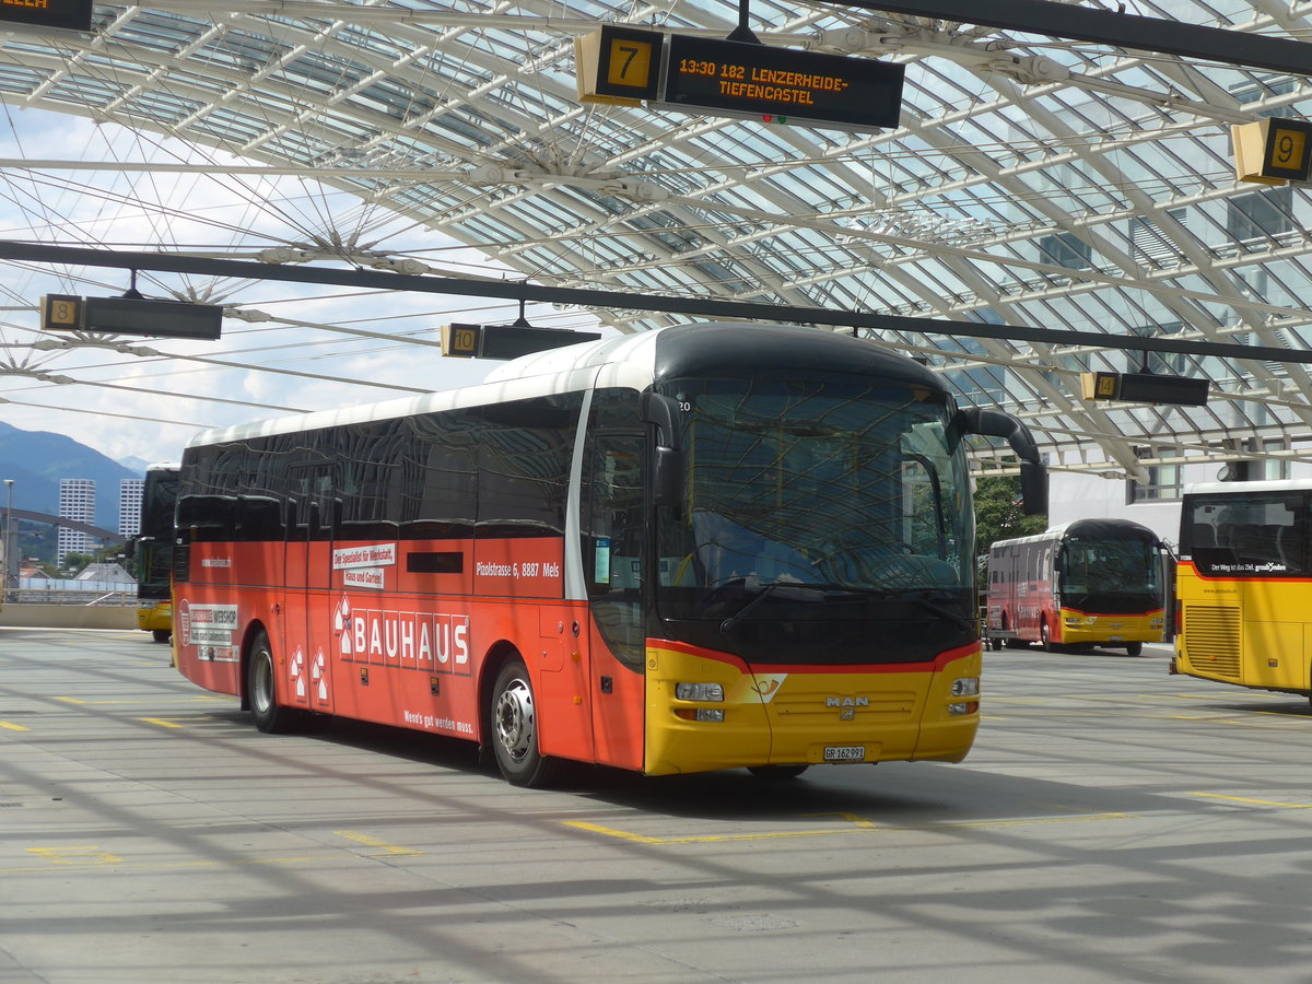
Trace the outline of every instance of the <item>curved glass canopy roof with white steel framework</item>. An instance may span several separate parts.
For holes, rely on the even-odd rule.
[[[859,333],[922,359],[966,403],[1021,415],[1054,467],[1136,475],[1181,455],[1305,454],[1305,365],[1118,344],[1308,348],[1307,192],[1236,181],[1231,148],[1233,125],[1304,117],[1305,77],[753,0],[748,25],[766,45],[905,66],[901,125],[850,133],[580,101],[576,37],[621,24],[724,38],[739,7],[715,0],[93,10],[89,34],[0,35],[0,98],[356,202],[318,224],[252,222],[227,256],[467,276],[429,249],[442,239],[538,285],[932,318],[941,331]],[[1260,0],[1126,9],[1294,39],[1308,12]],[[404,232],[378,232],[380,215]],[[52,228],[43,241],[70,240]],[[160,234],[151,248],[193,247]],[[240,291],[214,286],[210,299],[239,307]],[[592,314],[622,332],[689,320]],[[1107,342],[979,337],[977,325]],[[1211,399],[1085,401],[1080,373],[1099,369],[1206,377]]]

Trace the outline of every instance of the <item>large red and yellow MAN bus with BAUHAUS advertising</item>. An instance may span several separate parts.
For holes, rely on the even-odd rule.
[[[177,665],[264,731],[341,715],[647,774],[959,761],[979,724],[968,434],[938,378],[695,324],[484,384],[201,434]]]

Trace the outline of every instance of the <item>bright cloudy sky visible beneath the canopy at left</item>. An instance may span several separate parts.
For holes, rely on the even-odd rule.
[[[146,163],[156,169],[136,167]],[[226,164],[251,161],[0,105],[0,240],[235,260],[346,241],[446,276],[505,272],[383,206],[294,177],[224,174]],[[253,320],[226,318],[216,341],[117,336],[98,340],[108,346],[50,348],[70,336],[39,329],[43,295],[118,297],[129,286],[130,273],[114,268],[0,261],[0,420],[67,434],[115,461],[176,461],[209,426],[482,382],[501,363],[443,357],[421,342],[436,342],[450,321],[505,324],[520,314],[516,303],[479,298],[142,272],[136,289],[147,298],[181,291]],[[596,329],[586,312],[529,304],[525,314],[534,325]]]

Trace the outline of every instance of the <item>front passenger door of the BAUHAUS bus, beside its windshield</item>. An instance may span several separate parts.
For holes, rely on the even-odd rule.
[[[584,464],[593,741],[598,762],[625,769],[642,769],[644,754],[643,462],[640,433],[600,433]]]

